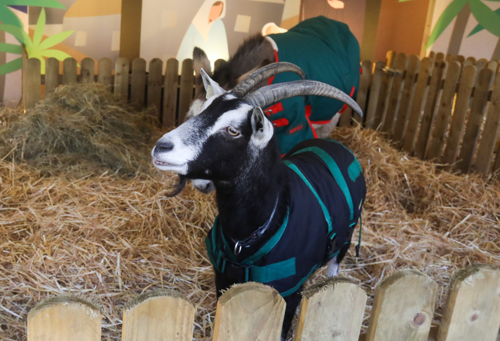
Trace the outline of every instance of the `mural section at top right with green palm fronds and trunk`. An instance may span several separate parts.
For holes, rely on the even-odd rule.
[[[436,0],[427,53],[500,59],[500,1]]]

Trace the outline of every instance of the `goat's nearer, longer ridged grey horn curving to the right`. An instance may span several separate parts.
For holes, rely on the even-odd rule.
[[[251,93],[248,93],[243,98],[243,101],[253,106],[265,107],[281,99],[308,95],[325,96],[337,99],[350,106],[359,115],[359,117],[363,116],[361,108],[357,105],[354,99],[349,97],[349,95],[334,86],[317,80],[294,80],[263,86]]]

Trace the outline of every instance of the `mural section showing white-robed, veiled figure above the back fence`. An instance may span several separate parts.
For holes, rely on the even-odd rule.
[[[294,3],[296,10],[285,14],[298,23],[300,0],[143,0],[140,56],[183,60],[192,58],[192,49],[198,46],[213,64],[218,58],[227,59],[246,36],[260,32],[266,23],[279,25],[283,8]]]

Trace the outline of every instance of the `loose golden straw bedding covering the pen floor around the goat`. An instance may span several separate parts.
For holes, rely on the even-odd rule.
[[[500,266],[497,182],[441,171],[371,130],[339,128],[333,138],[354,151],[367,181],[360,257],[351,247],[340,268],[369,295],[363,328],[374,286],[397,269],[415,267],[440,285],[439,319],[456,269]],[[134,152],[149,158],[149,147]],[[184,293],[197,308],[194,337],[209,336],[215,292],[203,240],[216,214],[214,196],[188,185],[166,198],[174,179],[154,170],[124,178],[86,167],[67,179],[1,161],[0,338],[25,339],[29,309],[71,293],[92,299],[103,314],[103,339],[118,340],[123,306],[152,288]],[[313,280],[324,275],[320,269]]]

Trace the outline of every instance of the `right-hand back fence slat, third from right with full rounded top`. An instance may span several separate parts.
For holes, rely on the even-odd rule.
[[[458,61],[450,62],[446,67],[439,101],[436,102],[437,112],[434,118],[434,128],[430,135],[430,143],[426,155],[429,159],[438,159],[441,156],[459,75],[460,63]]]

